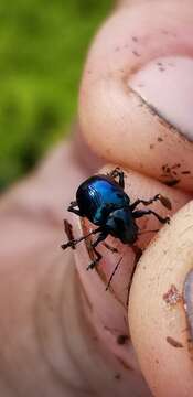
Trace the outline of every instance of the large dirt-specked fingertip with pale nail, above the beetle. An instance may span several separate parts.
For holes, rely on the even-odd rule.
[[[100,155],[189,190],[192,22],[187,0],[117,11],[90,50],[79,104],[85,138]]]

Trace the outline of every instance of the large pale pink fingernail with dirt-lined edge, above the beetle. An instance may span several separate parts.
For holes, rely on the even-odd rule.
[[[193,140],[193,60],[165,56],[150,62],[129,79],[129,86],[158,114]]]

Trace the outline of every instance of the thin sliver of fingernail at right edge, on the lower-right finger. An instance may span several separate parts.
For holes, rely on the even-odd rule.
[[[193,269],[189,271],[183,287],[184,308],[191,339],[193,341]]]

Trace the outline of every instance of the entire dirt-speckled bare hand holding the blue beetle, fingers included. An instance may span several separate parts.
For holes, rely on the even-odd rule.
[[[117,6],[85,66],[82,133],[75,128],[71,142],[61,143],[31,176],[1,197],[3,397],[192,395],[191,342],[182,302],[193,262],[192,6],[142,0]],[[138,71],[147,64],[141,75]],[[171,168],[176,163],[181,165]],[[125,170],[131,202],[161,193],[172,203],[170,212],[153,204],[162,216],[171,215],[171,224],[151,244],[153,233],[139,238],[139,246],[148,248],[135,272],[128,309],[132,249],[109,240],[124,259],[111,289],[105,291],[118,254],[103,247],[98,271],[86,271],[90,258],[84,244],[75,256],[60,248],[66,239],[62,219],[79,182],[101,165],[100,172],[109,172],[117,164]],[[169,180],[178,184],[162,183]],[[75,215],[71,222],[76,236],[82,227],[84,233],[89,228]],[[139,225],[160,227],[153,217]],[[176,302],[169,304],[171,286]],[[131,340],[119,344],[128,330]]]

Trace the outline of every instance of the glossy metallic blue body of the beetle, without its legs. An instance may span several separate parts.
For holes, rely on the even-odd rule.
[[[138,227],[130,211],[130,200],[124,189],[108,175],[92,176],[81,184],[76,202],[82,216],[103,226],[124,244],[137,239]]]

